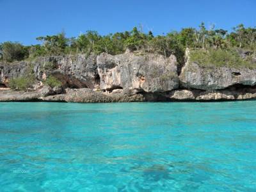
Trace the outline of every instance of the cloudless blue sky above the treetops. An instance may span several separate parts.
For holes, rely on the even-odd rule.
[[[142,26],[155,35],[181,28],[231,30],[237,24],[256,26],[255,0],[0,0],[0,42],[37,44],[36,36],[65,31],[77,36],[87,30],[100,35]]]

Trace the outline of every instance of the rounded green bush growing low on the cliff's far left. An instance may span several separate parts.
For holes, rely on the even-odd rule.
[[[35,83],[35,77],[33,75],[17,77],[10,79],[10,88],[13,90],[26,90]]]

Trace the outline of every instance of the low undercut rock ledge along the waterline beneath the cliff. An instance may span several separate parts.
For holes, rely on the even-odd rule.
[[[256,88],[241,90],[172,90],[166,93],[95,92],[90,88],[70,89],[65,93],[42,93],[42,90],[21,92],[0,90],[0,101],[56,101],[56,102],[142,102],[142,101],[213,101],[256,99]]]

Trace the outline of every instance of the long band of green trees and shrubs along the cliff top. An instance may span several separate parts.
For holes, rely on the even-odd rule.
[[[0,44],[1,60],[12,62],[38,56],[90,54],[91,52],[95,54],[101,52],[120,54],[129,49],[130,51],[156,52],[166,57],[175,54],[178,62],[183,63],[184,52],[187,47],[202,49],[203,51],[208,50],[209,52],[218,50],[216,54],[222,56],[223,50],[234,48],[256,52],[256,28],[244,28],[243,24],[234,28],[230,33],[224,29],[215,29],[214,26],[207,29],[202,22],[198,29],[184,28],[181,31],[172,31],[166,35],[157,36],[154,36],[152,31],[143,33],[142,29],[133,28],[132,31],[104,36],[99,35],[96,31],[87,31],[77,38],[67,38],[65,33],[62,32],[52,36],[40,36],[36,39],[42,44],[30,46],[24,46],[16,42]],[[198,53],[198,56],[200,56],[200,53]],[[233,56],[233,52],[230,53],[230,56]],[[233,57],[235,59],[230,59],[230,62],[238,60],[236,56]],[[220,59],[220,63],[220,65],[223,64],[223,58]]]

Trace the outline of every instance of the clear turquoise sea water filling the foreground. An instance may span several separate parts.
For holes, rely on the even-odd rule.
[[[256,101],[0,102],[0,191],[256,191]]]

